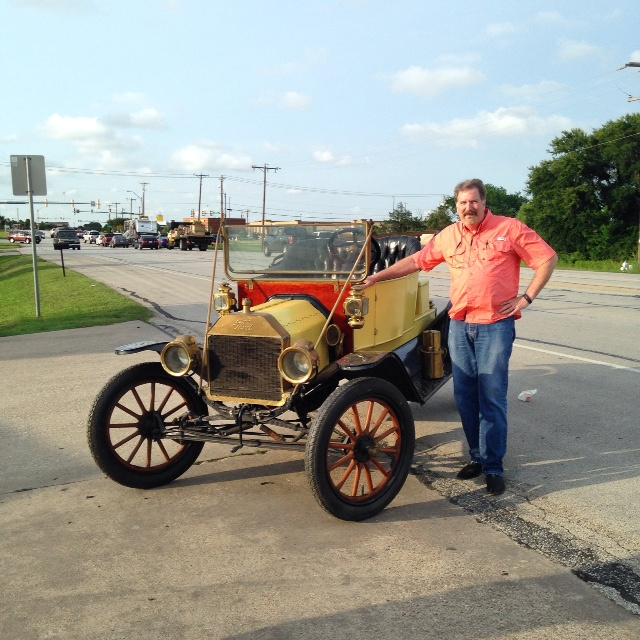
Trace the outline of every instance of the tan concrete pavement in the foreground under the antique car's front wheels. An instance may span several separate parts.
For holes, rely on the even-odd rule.
[[[106,479],[93,400],[156,359],[113,347],[166,337],[125,323],[0,338],[0,637],[640,636],[640,618],[413,476],[363,523],[315,504],[295,451],[207,445],[161,489]]]

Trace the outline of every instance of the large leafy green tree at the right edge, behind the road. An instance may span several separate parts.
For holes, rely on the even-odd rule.
[[[635,255],[640,213],[640,115],[588,134],[564,131],[552,158],[529,173],[531,201],[518,217],[565,256],[624,260]]]

